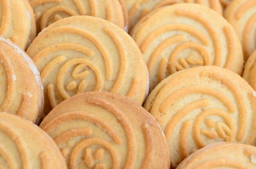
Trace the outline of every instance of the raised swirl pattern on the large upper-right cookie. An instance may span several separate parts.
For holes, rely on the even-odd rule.
[[[204,27],[211,39],[207,37],[207,34],[204,34],[196,27],[182,23],[162,25],[148,33],[146,38],[144,38],[144,40],[142,40],[138,45],[147,60],[148,73],[150,77],[150,90],[154,89],[155,85],[161,82],[168,75],[183,69],[202,65],[222,66],[223,57],[226,58],[224,60],[224,68],[231,69],[233,65],[235,56],[234,46],[236,46],[236,43],[233,36],[234,34],[230,30],[231,27],[227,25],[221,30],[223,31],[227,41],[228,52],[227,55],[224,56],[222,53],[223,50],[220,36],[218,36],[217,29],[214,28],[211,21],[193,11],[176,10],[174,13],[175,16],[195,20],[198,24]],[[137,30],[135,28],[133,31],[133,38],[135,42],[138,42],[139,36],[142,32],[139,32],[139,27]],[[159,40],[159,37],[162,34],[172,32],[177,32],[179,34],[175,33],[171,37]],[[186,38],[184,33],[189,34],[189,36],[195,38],[195,40],[191,40],[190,37]],[[161,43],[159,43],[159,41]],[[153,46],[156,42],[159,44],[157,46]],[[209,52],[211,42],[213,43],[213,53]],[[152,48],[154,49],[153,52],[151,52]],[[170,54],[166,53],[166,50],[169,49]],[[190,52],[191,56],[180,56],[180,54],[187,49],[192,50],[192,52]],[[193,52],[196,52],[197,54],[193,54]],[[162,53],[165,53],[164,56]],[[213,60],[213,62],[211,60]],[[155,77],[157,78],[155,79]]]

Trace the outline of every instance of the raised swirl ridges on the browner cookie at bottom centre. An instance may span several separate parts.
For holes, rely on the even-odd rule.
[[[60,134],[55,134],[54,141],[61,149],[61,152],[66,159],[67,166],[70,169],[78,169],[78,166],[86,166],[92,169],[132,168],[135,165],[138,145],[135,138],[135,130],[132,127],[130,120],[121,109],[105,99],[90,97],[88,98],[87,103],[91,106],[105,109],[106,112],[114,116],[124,129],[124,134],[120,135],[120,130],[117,131],[116,128],[110,125],[106,120],[103,120],[100,116],[90,115],[90,113],[85,111],[69,111],[63,113],[40,127],[47,133],[51,133],[54,129],[75,120],[82,120],[90,123],[86,125],[86,127],[75,129],[74,126],[72,126],[72,129],[66,128]],[[155,147],[152,144],[153,136],[148,129],[146,124],[143,125],[142,130],[144,131],[144,136],[148,144],[145,150],[142,169],[150,168],[151,162],[155,156]],[[105,134],[97,136],[99,130],[107,136]],[[124,142],[127,142],[127,145],[124,145]],[[97,147],[95,148],[95,146]],[[125,148],[127,149],[125,157],[118,151],[117,148],[120,147],[127,147]],[[148,151],[150,151],[150,153],[148,153]],[[108,159],[108,155],[111,156],[110,160],[106,160]],[[126,160],[124,160],[124,158]],[[125,161],[125,164],[121,164],[121,161]],[[83,165],[81,165],[81,163],[83,163]],[[110,164],[112,166],[109,166]]]

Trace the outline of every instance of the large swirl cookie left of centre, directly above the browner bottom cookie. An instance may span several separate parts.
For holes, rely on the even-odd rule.
[[[45,113],[86,91],[110,91],[140,105],[148,72],[137,44],[122,29],[91,16],[73,16],[45,28],[27,54],[41,73]]]

